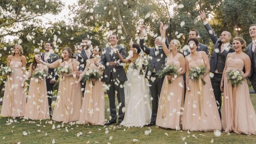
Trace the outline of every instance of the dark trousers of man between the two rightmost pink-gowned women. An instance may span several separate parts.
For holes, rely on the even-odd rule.
[[[214,77],[210,79],[212,89],[214,89],[214,96],[217,103],[219,115],[221,118],[221,104],[222,104],[222,98],[221,98],[221,78],[222,74],[214,74]]]

